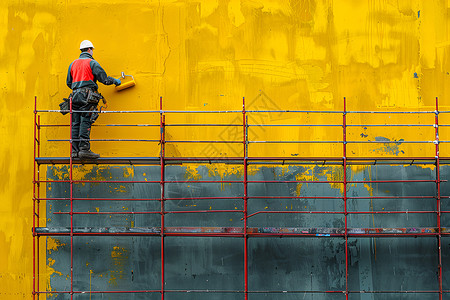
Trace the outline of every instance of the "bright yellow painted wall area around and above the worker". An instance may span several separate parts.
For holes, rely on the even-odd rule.
[[[136,87],[101,86],[110,110],[247,109],[450,110],[447,0],[3,0],[0,3],[0,298],[29,299],[32,291],[33,107],[57,109],[69,93],[67,67],[81,40],[95,45],[107,73],[133,74]],[[236,122],[226,116],[169,115],[167,123]],[[441,122],[448,123],[448,117]],[[263,115],[252,122],[311,124],[341,116]],[[432,124],[433,116],[353,115],[349,122]],[[44,114],[42,123],[67,124]],[[99,124],[159,122],[158,116],[106,114]],[[258,131],[259,130],[259,131]],[[433,140],[433,129],[354,128],[390,140]],[[255,129],[253,138],[336,139],[340,129]],[[168,130],[168,138],[236,137],[217,129]],[[275,137],[274,137],[275,136]],[[94,128],[92,138],[158,138],[157,129]],[[68,138],[67,128],[42,139]],[[251,137],[252,138],[252,137]],[[225,139],[225,138],[224,138]],[[450,140],[448,130],[441,139]],[[253,147],[250,155],[341,155],[340,145]],[[103,156],[157,156],[156,144],[95,143]],[[433,155],[433,145],[402,144],[399,155]],[[67,156],[67,143],[46,143],[42,155]],[[167,154],[235,156],[240,149],[169,145]],[[398,153],[397,153],[398,154]],[[349,146],[349,155],[394,155],[380,145]],[[441,146],[441,155],[450,156]],[[45,263],[45,262],[44,262]]]

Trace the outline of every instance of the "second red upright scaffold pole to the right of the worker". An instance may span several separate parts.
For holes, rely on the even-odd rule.
[[[248,182],[247,182],[247,158],[248,158],[248,124],[245,111],[245,97],[242,98],[242,125],[243,125],[243,150],[244,150],[244,293],[245,300],[248,299],[248,234],[247,234],[247,202],[248,202]]]

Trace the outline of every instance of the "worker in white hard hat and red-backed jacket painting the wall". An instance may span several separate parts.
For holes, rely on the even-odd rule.
[[[80,57],[74,60],[67,73],[67,86],[72,89],[72,158],[96,159],[100,155],[91,151],[91,125],[98,117],[97,104],[103,97],[97,92],[97,81],[104,85],[120,85],[120,80],[106,75],[100,64],[94,60],[94,45],[84,40],[80,44]]]

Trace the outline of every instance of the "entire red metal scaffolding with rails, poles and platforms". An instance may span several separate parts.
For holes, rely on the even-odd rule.
[[[160,110],[158,111],[121,111],[120,113],[148,113],[148,114],[159,114],[160,123],[159,125],[149,125],[158,126],[160,129],[160,136],[158,139],[154,140],[144,140],[144,139],[120,139],[120,140],[92,140],[92,141],[146,141],[155,142],[160,144],[160,155],[159,157],[108,157],[99,158],[95,161],[80,161],[78,159],[72,159],[71,155],[68,157],[41,157],[41,134],[40,131],[43,127],[53,127],[53,126],[63,126],[63,125],[43,125],[41,124],[40,114],[42,113],[53,113],[60,112],[59,110],[38,110],[37,109],[37,97],[35,97],[35,109],[34,109],[34,179],[33,179],[33,299],[39,299],[40,295],[45,294],[70,294],[71,299],[76,294],[116,294],[116,293],[160,293],[161,299],[164,299],[166,293],[171,292],[207,292],[207,293],[238,293],[242,294],[243,298],[248,299],[250,293],[337,293],[345,295],[345,298],[349,298],[349,294],[352,293],[433,293],[436,294],[440,300],[443,299],[444,295],[450,293],[449,290],[443,289],[443,275],[442,275],[442,241],[443,236],[449,236],[450,230],[442,227],[441,225],[441,215],[443,213],[449,213],[450,211],[441,210],[441,200],[448,199],[449,196],[441,195],[441,183],[444,180],[441,179],[440,166],[442,164],[448,164],[450,162],[449,157],[441,157],[439,153],[440,143],[448,141],[439,140],[439,127],[446,126],[439,124],[439,115],[443,113],[450,113],[450,111],[439,111],[438,99],[436,98],[436,108],[434,111],[416,111],[416,112],[398,112],[398,111],[347,111],[346,99],[344,98],[343,111],[288,111],[288,110],[246,110],[245,98],[242,102],[242,110],[239,111],[169,111],[163,109],[162,98],[160,98]],[[270,126],[266,124],[249,124],[248,114],[249,113],[300,113],[300,114],[313,114],[313,113],[327,113],[327,114],[339,114],[342,115],[342,124],[327,124],[327,125],[317,125],[317,126],[336,126],[342,128],[342,140],[339,141],[255,141],[249,139],[248,130],[250,126]],[[70,116],[72,116],[73,110],[70,108]],[[101,113],[109,113],[108,111],[102,111]],[[117,113],[117,112],[115,112]],[[195,114],[195,113],[210,113],[210,114],[224,114],[224,113],[241,113],[242,114],[242,141],[224,141],[224,140],[202,140],[202,141],[189,141],[189,140],[166,140],[166,128],[170,124],[166,124],[165,116],[171,113],[184,113],[184,114]],[[349,157],[347,155],[348,144],[362,144],[362,143],[396,143],[395,141],[351,141],[348,140],[347,130],[349,126],[370,126],[370,125],[349,125],[347,123],[348,114],[366,114],[366,113],[383,113],[383,114],[428,114],[434,115],[434,124],[428,125],[414,125],[414,124],[396,124],[396,125],[372,125],[372,126],[432,126],[434,127],[435,139],[432,141],[403,141],[402,143],[433,143],[435,145],[435,155],[430,157]],[[190,124],[192,125],[192,124]],[[66,125],[67,126],[67,125]],[[186,125],[189,126],[189,125]],[[223,124],[204,124],[202,126],[223,126]],[[235,126],[229,124],[229,126]],[[277,126],[277,125],[274,125]],[[280,125],[280,126],[290,126],[290,125]],[[292,125],[294,126],[294,125]],[[302,126],[302,125],[296,125]],[[309,125],[311,126],[311,125]],[[68,140],[48,140],[48,141],[66,141],[71,143],[73,141],[72,137]],[[242,145],[241,157],[166,157],[165,146],[168,143],[235,143]],[[248,148],[250,144],[259,143],[333,143],[342,144],[342,156],[339,157],[250,157]],[[70,152],[72,147],[70,145]],[[71,153],[70,153],[71,154]],[[240,165],[243,167],[243,176],[241,180],[195,180],[196,183],[229,183],[229,184],[241,184],[243,186],[243,195],[236,197],[196,197],[198,200],[220,200],[220,199],[237,199],[243,201],[242,210],[183,210],[183,211],[169,211],[165,208],[165,202],[169,200],[186,200],[190,198],[176,198],[167,197],[165,193],[166,185],[169,183],[184,183],[184,181],[177,180],[167,180],[165,176],[166,166],[179,163],[227,163]],[[68,180],[47,180],[41,178],[40,167],[43,165],[55,165],[64,164],[69,166],[69,179]],[[74,180],[73,177],[73,167],[77,164],[106,164],[106,165],[119,165],[119,164],[130,164],[130,165],[156,165],[160,167],[160,179],[159,180],[127,180],[127,181],[117,181],[117,180]],[[258,164],[274,164],[274,165],[292,165],[292,164],[307,164],[307,165],[336,165],[342,166],[343,176],[342,180],[326,180],[326,181],[316,181],[316,180],[249,180],[248,179],[248,168],[250,165]],[[413,179],[402,179],[402,180],[348,180],[347,168],[352,165],[434,165],[435,166],[435,179],[427,180],[413,180]],[[68,198],[48,198],[41,197],[41,184],[47,184],[52,182],[65,182],[70,184],[70,195]],[[161,193],[159,198],[142,198],[142,199],[113,199],[113,198],[77,198],[74,197],[73,187],[74,184],[79,183],[142,183],[142,184],[159,184]],[[436,195],[435,196],[350,196],[347,194],[347,187],[351,184],[357,183],[419,183],[428,182],[435,184]],[[248,193],[249,184],[268,184],[268,183],[320,183],[320,184],[338,184],[343,186],[342,195],[340,197],[321,197],[321,196],[251,196]],[[343,201],[343,211],[275,211],[275,210],[264,210],[257,211],[254,213],[248,212],[248,201],[251,199],[335,199]],[[347,203],[352,199],[435,199],[436,200],[436,210],[417,210],[417,211],[348,211]],[[68,200],[70,201],[70,210],[66,212],[54,212],[54,214],[66,214],[70,216],[70,227],[61,228],[49,228],[45,227],[45,219],[41,217],[40,203],[41,201],[48,200]],[[75,201],[159,201],[160,210],[159,211],[141,211],[141,212],[75,212],[73,204]],[[167,227],[165,225],[165,216],[167,214],[176,213],[227,213],[227,212],[239,212],[242,214],[241,220],[243,221],[242,227]],[[74,227],[73,219],[75,215],[113,215],[113,214],[158,214],[160,215],[160,226],[152,228],[135,228],[133,230],[127,229],[111,229],[109,227],[105,228],[77,228]],[[297,228],[297,227],[250,227],[248,225],[248,219],[258,215],[258,214],[339,214],[344,216],[344,228]],[[348,227],[348,216],[352,214],[436,214],[437,224],[435,227],[424,227],[424,228],[349,228]],[[42,271],[40,270],[40,249],[39,249],[39,239],[40,237],[49,236],[67,236],[70,238],[70,291],[47,291],[39,286],[40,275]],[[157,290],[124,290],[124,291],[84,291],[75,290],[73,286],[73,270],[76,268],[74,266],[74,255],[73,255],[73,245],[74,237],[76,236],[159,236],[161,241],[161,288]],[[243,290],[168,290],[165,288],[165,238],[168,236],[178,236],[178,237],[237,237],[242,238],[244,241],[244,289]],[[248,273],[248,239],[253,237],[334,237],[343,238],[345,240],[345,290],[309,290],[309,291],[274,291],[274,290],[251,290],[249,288],[249,273]],[[349,289],[349,238],[373,238],[373,237],[436,237],[437,238],[437,256],[438,256],[438,290],[397,290],[397,291],[383,291],[383,290],[351,290]]]

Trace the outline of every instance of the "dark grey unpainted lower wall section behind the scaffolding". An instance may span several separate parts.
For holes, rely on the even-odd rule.
[[[55,167],[53,167],[55,168]],[[134,167],[133,176],[124,176],[125,168],[93,167],[77,170],[83,179],[159,180],[159,167]],[[186,166],[166,167],[166,180],[185,180]],[[198,166],[201,180],[242,180],[242,172],[227,176],[211,175],[211,166]],[[84,169],[83,169],[84,170]],[[83,173],[84,172],[84,173]],[[441,167],[441,178],[449,168]],[[49,179],[67,176],[67,168],[55,172],[48,168]],[[145,175],[144,175],[145,174]],[[342,180],[341,167],[289,166],[260,167],[249,180]],[[331,178],[330,176],[334,176]],[[348,168],[348,180],[435,179],[435,169],[422,166],[372,166]],[[68,197],[69,185],[52,183],[48,197]],[[325,196],[340,197],[339,185],[309,183],[249,184],[250,196]],[[357,196],[434,196],[435,183],[349,184],[347,195]],[[442,184],[442,195],[450,195],[450,185]],[[166,197],[235,197],[243,195],[242,183],[169,183]],[[159,184],[95,183],[76,184],[74,197],[158,198]],[[349,211],[436,210],[434,199],[350,199]],[[242,210],[243,201],[176,200],[167,201],[166,210]],[[250,199],[249,213],[264,210],[343,211],[337,199]],[[159,201],[75,201],[74,211],[127,212],[159,211]],[[449,201],[442,200],[442,210]],[[48,227],[70,226],[68,201],[48,201]],[[241,213],[168,214],[166,226],[242,227]],[[442,226],[448,223],[442,217]],[[436,214],[349,215],[348,227],[436,227]],[[75,215],[74,227],[158,227],[160,216],[150,215]],[[249,218],[249,227],[344,227],[343,214],[259,214]],[[54,261],[52,290],[70,290],[70,238],[57,238],[62,246],[49,251]],[[435,237],[349,238],[349,279],[351,291],[430,291],[438,290],[438,251]],[[450,238],[442,238],[443,288],[450,289]],[[244,290],[244,240],[236,237],[166,237],[165,288],[168,290]],[[340,237],[253,237],[248,239],[249,299],[345,299],[343,293],[282,293],[282,291],[345,290],[345,240]],[[161,239],[141,237],[74,237],[75,290],[158,290],[161,288]],[[69,299],[69,295],[54,295]],[[160,299],[154,294],[85,294],[75,299]],[[169,292],[165,299],[244,299],[242,293]],[[438,299],[437,294],[350,294],[349,299]],[[445,299],[445,298],[444,298]]]

